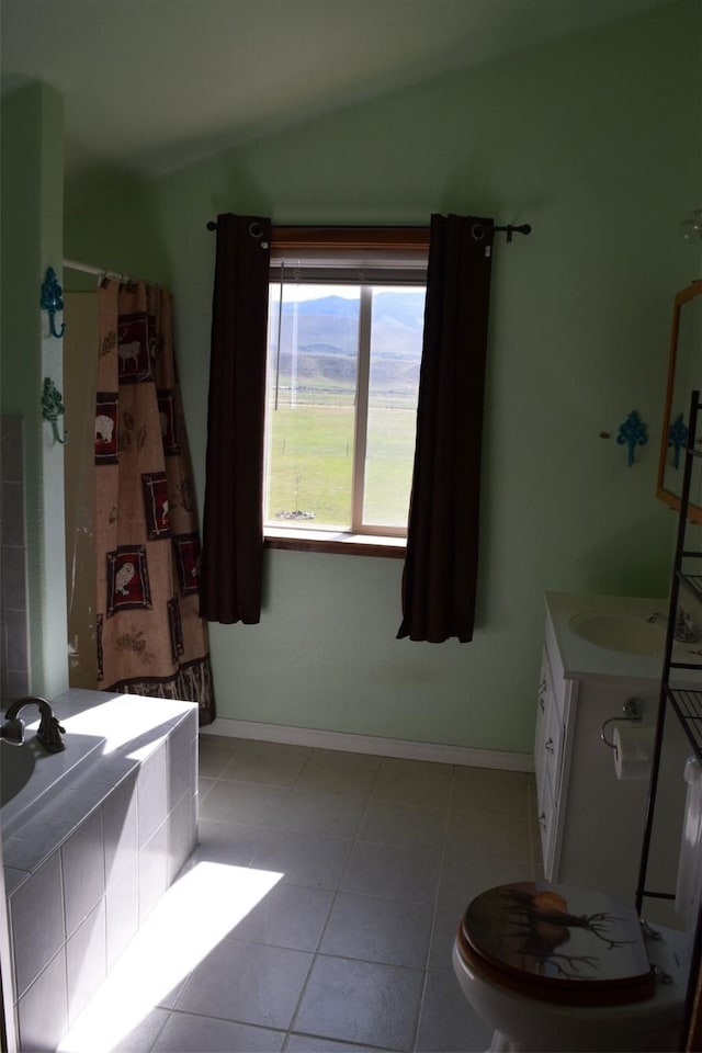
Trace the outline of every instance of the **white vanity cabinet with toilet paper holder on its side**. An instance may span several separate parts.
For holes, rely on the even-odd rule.
[[[624,717],[624,706],[631,699],[639,701],[644,722],[655,724],[659,659],[630,655],[614,668],[611,654],[604,658],[598,654],[604,648],[580,646],[579,641],[567,638],[571,612],[577,612],[578,605],[597,610],[616,599],[546,593],[534,768],[544,876],[632,897],[638,876],[648,779],[619,779],[613,750],[602,740],[601,732],[607,721]],[[633,602],[643,611],[660,610],[660,600]],[[610,741],[612,731],[613,725],[608,725]],[[673,892],[687,752],[681,738],[671,743],[668,762],[673,772],[672,800],[669,806],[661,805],[657,835],[657,878],[667,891],[672,883]],[[679,793],[675,789],[678,777]]]

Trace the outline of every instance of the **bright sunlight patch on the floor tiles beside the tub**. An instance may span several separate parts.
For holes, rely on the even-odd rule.
[[[283,874],[195,862],[168,890],[57,1053],[110,1053]]]

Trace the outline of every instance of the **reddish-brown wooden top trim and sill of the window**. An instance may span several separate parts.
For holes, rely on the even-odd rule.
[[[271,256],[295,250],[331,250],[339,252],[414,250],[429,254],[429,227],[342,227],[342,226],[273,226]],[[355,465],[354,451],[354,465]],[[354,471],[354,477],[355,477]],[[353,484],[355,485],[355,483]],[[308,530],[272,526],[263,523],[267,548],[302,552],[327,552],[344,555],[405,557],[407,539],[392,532],[366,533],[333,530]]]

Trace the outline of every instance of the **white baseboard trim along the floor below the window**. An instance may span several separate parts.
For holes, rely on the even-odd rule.
[[[265,743],[338,749],[354,754],[374,754],[381,757],[399,757],[404,760],[432,760],[443,765],[464,765],[468,768],[534,770],[531,754],[474,749],[471,746],[448,746],[441,743],[415,743],[403,738],[353,735],[349,732],[327,732],[315,727],[292,727],[285,724],[259,724],[254,721],[233,721],[225,717],[217,717],[212,724],[201,727],[200,734],[252,738]]]

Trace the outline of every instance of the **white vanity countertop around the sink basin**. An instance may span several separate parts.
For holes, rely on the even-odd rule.
[[[570,627],[570,620],[577,614],[597,612],[600,614],[633,614],[647,618],[654,611],[666,614],[667,599],[642,599],[627,596],[597,596],[580,592],[545,592],[546,612],[553,625],[556,645],[563,661],[564,677],[568,680],[660,680],[663,673],[663,654],[631,655],[621,650],[611,650],[598,644],[589,643]],[[700,644],[693,646],[702,646]],[[679,657],[690,660],[684,644],[676,644],[673,660]],[[682,679],[700,687],[702,683],[702,660],[700,676],[693,670],[681,670]]]

